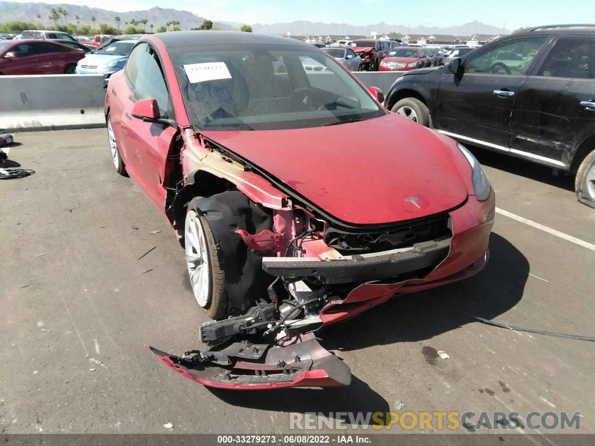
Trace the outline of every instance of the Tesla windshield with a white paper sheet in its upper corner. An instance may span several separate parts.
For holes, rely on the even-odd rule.
[[[342,65],[314,48],[192,45],[170,55],[196,130],[306,128],[384,115]],[[307,71],[306,59],[325,70]]]

